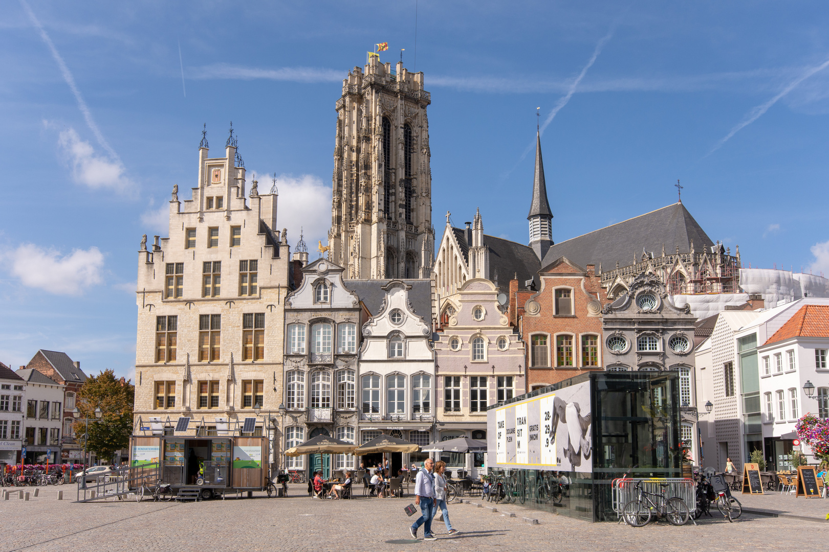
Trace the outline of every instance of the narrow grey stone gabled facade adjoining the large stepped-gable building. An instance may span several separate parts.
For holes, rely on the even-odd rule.
[[[319,434],[356,443],[357,351],[361,308],[342,282],[342,266],[318,259],[285,299],[286,449]],[[331,460],[333,459],[333,464]],[[355,468],[351,454],[285,458],[286,468],[313,473]]]

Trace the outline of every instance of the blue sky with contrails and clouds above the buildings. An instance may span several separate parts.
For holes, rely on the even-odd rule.
[[[249,175],[278,175],[292,246],[324,240],[334,103],[381,41],[432,94],[438,233],[479,207],[527,241],[541,107],[555,241],[681,179],[746,264],[829,273],[829,7],[666,3],[419,0],[415,49],[414,0],[3,0],[0,362],[49,348],[132,376],[138,242],[195,184],[203,123],[216,153],[232,120]]]

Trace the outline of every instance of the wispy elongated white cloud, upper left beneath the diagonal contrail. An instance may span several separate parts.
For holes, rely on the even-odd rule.
[[[95,148],[90,142],[81,140],[74,128],[62,131],[57,143],[72,167],[72,180],[76,184],[92,190],[109,189],[123,194],[134,191],[135,185],[124,175],[121,161],[95,154]]]

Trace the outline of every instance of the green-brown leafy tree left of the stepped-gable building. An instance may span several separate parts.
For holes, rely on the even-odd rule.
[[[135,386],[129,380],[116,379],[111,369],[88,377],[78,392],[76,405],[80,418],[75,422],[75,434],[84,434],[85,418],[89,416],[86,447],[99,458],[111,460],[116,450],[129,446],[134,404]],[[95,408],[100,408],[103,413],[100,420],[95,418]]]

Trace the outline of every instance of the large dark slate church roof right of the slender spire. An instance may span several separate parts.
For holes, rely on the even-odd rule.
[[[610,271],[616,268],[617,261],[619,266],[632,264],[633,254],[641,256],[642,248],[655,256],[662,255],[662,244],[667,254],[675,253],[676,246],[680,252],[690,252],[691,240],[696,251],[714,245],[685,206],[676,203],[556,243],[541,264],[546,266],[559,257],[567,257],[580,266],[593,264],[598,269],[601,263],[603,271]]]

